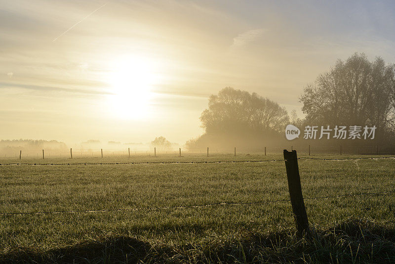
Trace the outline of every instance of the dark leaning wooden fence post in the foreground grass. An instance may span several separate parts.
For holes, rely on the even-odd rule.
[[[309,220],[307,218],[305,203],[303,201],[296,150],[289,152],[284,149],[284,160],[287,172],[289,197],[291,198],[296,229],[298,230],[298,235],[302,236],[309,232]]]

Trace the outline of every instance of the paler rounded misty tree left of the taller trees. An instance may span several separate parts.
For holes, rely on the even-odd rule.
[[[200,121],[205,133],[187,141],[190,149],[236,144],[256,147],[282,138],[289,117],[285,108],[268,98],[227,87],[210,96]]]

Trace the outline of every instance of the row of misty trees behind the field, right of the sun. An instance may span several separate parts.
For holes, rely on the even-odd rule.
[[[187,141],[188,148],[207,145],[245,146],[284,142],[287,124],[298,126],[376,126],[375,140],[395,139],[395,65],[381,57],[369,61],[355,53],[338,60],[308,84],[299,97],[301,119],[277,102],[227,87],[211,95],[200,116],[204,134]],[[358,144],[358,141],[354,141]],[[360,143],[360,142],[359,142]]]

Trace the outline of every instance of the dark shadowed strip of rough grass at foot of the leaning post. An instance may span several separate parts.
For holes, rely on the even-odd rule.
[[[348,220],[298,239],[292,232],[246,233],[242,240],[151,245],[132,237],[103,237],[71,247],[14,248],[1,263],[394,263],[395,230]]]

